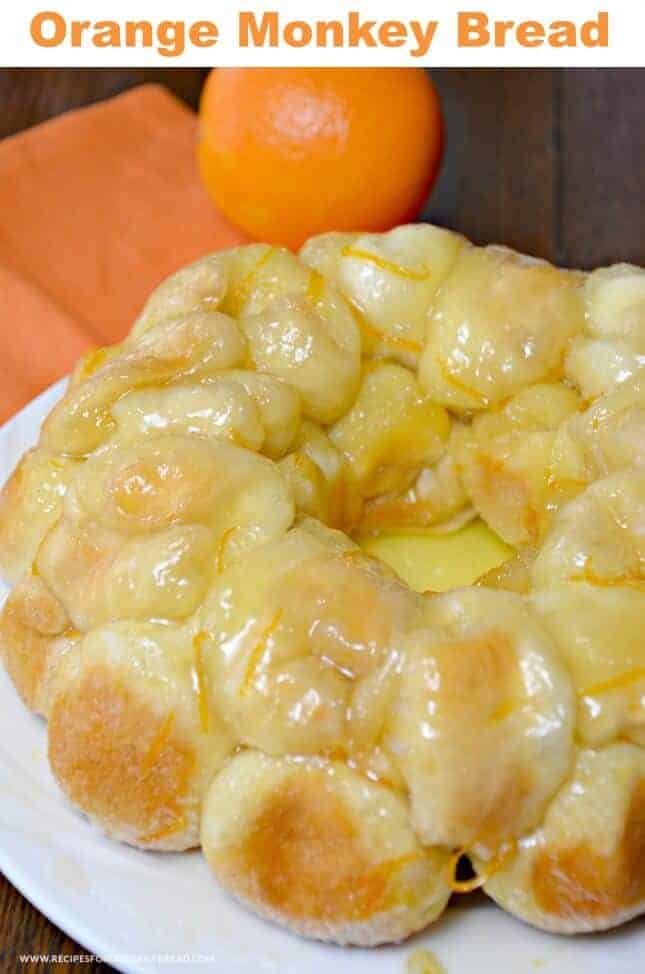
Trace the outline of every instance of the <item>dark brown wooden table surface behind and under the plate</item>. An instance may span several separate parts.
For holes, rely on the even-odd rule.
[[[0,137],[144,81],[195,107],[205,74],[1,70]],[[444,69],[433,78],[448,143],[429,219],[565,266],[645,264],[645,69]],[[18,954],[82,952],[0,877],[1,971],[69,971]]]

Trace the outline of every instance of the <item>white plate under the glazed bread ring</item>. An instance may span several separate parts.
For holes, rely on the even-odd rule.
[[[31,445],[63,385],[0,430],[0,482]],[[0,600],[6,590],[0,589]],[[565,939],[526,927],[483,896],[464,897],[397,947],[325,947],[247,913],[199,853],[144,853],[103,838],[63,798],[47,766],[45,726],[0,674],[0,866],[90,952],[125,972],[404,974],[427,947],[448,974],[643,974],[645,925]],[[8,946],[4,944],[3,946]]]

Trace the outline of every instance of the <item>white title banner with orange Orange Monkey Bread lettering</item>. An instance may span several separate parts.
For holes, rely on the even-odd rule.
[[[4,0],[3,66],[645,65],[643,0]]]

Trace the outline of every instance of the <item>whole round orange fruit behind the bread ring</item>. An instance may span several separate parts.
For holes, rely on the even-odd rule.
[[[199,166],[250,237],[298,248],[325,230],[412,220],[439,168],[439,99],[420,68],[218,68]]]

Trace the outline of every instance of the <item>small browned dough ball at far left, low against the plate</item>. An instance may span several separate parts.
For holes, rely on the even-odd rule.
[[[47,714],[53,671],[78,637],[37,575],[26,575],[9,594],[0,613],[0,659],[30,710]]]

